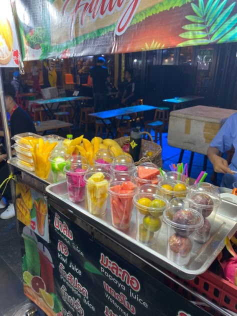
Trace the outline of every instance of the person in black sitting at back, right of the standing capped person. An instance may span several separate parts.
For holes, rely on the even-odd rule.
[[[126,106],[135,105],[135,82],[132,80],[132,69],[125,71],[125,80],[121,103]]]

